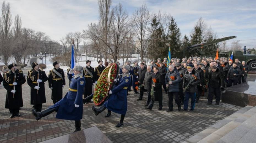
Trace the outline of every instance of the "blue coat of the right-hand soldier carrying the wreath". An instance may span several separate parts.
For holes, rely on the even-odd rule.
[[[104,103],[104,106],[115,113],[125,115],[127,111],[127,87],[131,81],[130,75],[121,77],[118,85],[111,89],[112,94]]]

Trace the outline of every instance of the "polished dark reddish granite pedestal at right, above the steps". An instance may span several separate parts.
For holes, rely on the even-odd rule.
[[[256,75],[250,74],[247,82],[226,88],[221,100],[241,107],[256,106]]]

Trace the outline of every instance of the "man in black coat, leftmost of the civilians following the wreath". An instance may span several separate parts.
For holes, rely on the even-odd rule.
[[[143,84],[146,71],[147,71],[147,69],[145,67],[145,64],[144,63],[140,63],[139,74],[138,74],[138,83],[139,83],[139,85]],[[144,93],[144,87],[141,86],[140,87],[140,97],[137,100],[142,100],[143,93]]]

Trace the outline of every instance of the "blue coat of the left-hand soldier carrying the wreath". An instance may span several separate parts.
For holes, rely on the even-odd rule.
[[[70,82],[69,92],[60,101],[50,106],[49,109],[55,108],[56,118],[78,121],[83,116],[83,91],[85,78],[81,74],[77,78],[73,77]],[[75,107],[75,104],[79,107]]]

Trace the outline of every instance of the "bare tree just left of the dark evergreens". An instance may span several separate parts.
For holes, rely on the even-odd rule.
[[[133,28],[135,31],[135,37],[140,45],[138,52],[140,53],[141,60],[144,59],[147,50],[147,44],[149,39],[148,24],[150,22],[150,14],[146,4],[143,4],[140,8],[133,13]]]

